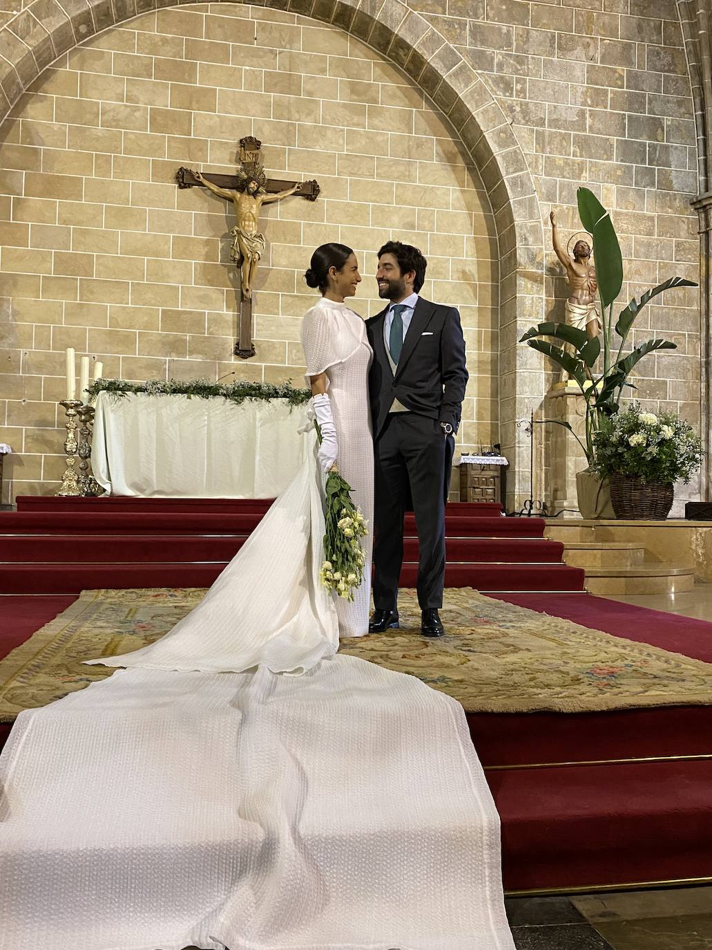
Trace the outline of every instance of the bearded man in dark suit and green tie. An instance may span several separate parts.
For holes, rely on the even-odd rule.
[[[375,612],[368,630],[398,626],[403,515],[412,504],[421,632],[442,637],[445,500],[468,377],[458,311],[418,295],[426,267],[418,248],[384,244],[376,279],[379,296],[389,303],[365,322],[374,354],[368,388],[375,452]]]

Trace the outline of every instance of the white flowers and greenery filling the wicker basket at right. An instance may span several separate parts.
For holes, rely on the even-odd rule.
[[[702,464],[703,446],[675,412],[643,412],[638,403],[606,417],[593,436],[592,470],[602,478],[635,475],[643,482],[689,482]]]

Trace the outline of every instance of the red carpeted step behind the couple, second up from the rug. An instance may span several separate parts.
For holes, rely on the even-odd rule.
[[[112,561],[230,561],[247,535],[115,535],[110,542]],[[13,535],[2,538],[0,563],[58,563],[106,560],[105,535]],[[560,563],[564,545],[538,538],[448,538],[448,561],[501,561]],[[406,538],[406,561],[418,560],[418,540]]]

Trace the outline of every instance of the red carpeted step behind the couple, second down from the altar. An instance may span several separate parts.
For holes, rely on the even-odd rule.
[[[261,519],[258,512],[245,514],[143,514],[138,512],[72,512],[8,511],[0,513],[2,535],[29,533],[94,534],[246,534]],[[405,533],[415,534],[415,518],[405,516]],[[542,538],[543,518],[499,518],[446,514],[445,533],[459,538]]]

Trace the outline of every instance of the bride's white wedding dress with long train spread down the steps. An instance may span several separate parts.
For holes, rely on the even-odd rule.
[[[304,343],[370,519],[364,324],[323,300]],[[365,633],[369,591],[319,586],[324,478],[304,437],[309,461],[192,614],[18,717],[0,950],[514,950],[459,704],[334,656],[339,627]]]

